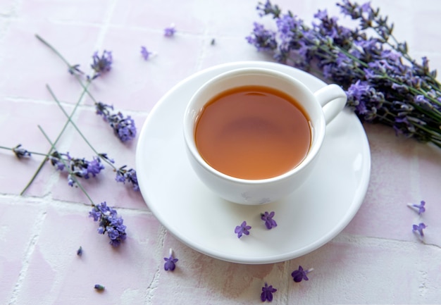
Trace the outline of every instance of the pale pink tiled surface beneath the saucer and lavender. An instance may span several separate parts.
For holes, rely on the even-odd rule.
[[[327,0],[274,3],[304,20],[312,20],[318,9],[339,11]],[[66,64],[35,34],[71,64],[80,64],[86,74],[91,73],[94,51],[112,51],[111,72],[94,80],[89,92],[97,101],[130,115],[140,131],[155,104],[185,77],[220,63],[271,61],[244,39],[254,21],[271,24],[259,18],[257,4],[254,0],[0,1],[0,145],[23,144],[45,154],[49,143],[37,125],[54,140],[66,123],[46,84],[68,113],[82,94]],[[428,56],[431,68],[441,68],[436,26],[440,1],[373,0],[372,4],[393,20],[397,39],[409,43],[415,58]],[[163,29],[171,23],[177,32],[164,37]],[[154,52],[148,61],[139,53],[141,46]],[[116,168],[135,168],[137,140],[120,142],[96,115],[90,97],[80,100],[73,120],[99,153],[115,160]],[[356,216],[323,247],[297,259],[264,265],[228,263],[187,247],[156,220],[139,192],[115,181],[112,166],[105,164],[102,173],[82,180],[82,185],[95,204],[106,201],[123,216],[128,237],[113,249],[107,235],[97,234],[98,224],[88,217],[89,199],[80,188],[67,184],[65,173],[46,163],[20,196],[43,157],[34,154],[18,160],[2,149],[0,304],[261,304],[264,282],[278,289],[273,304],[440,304],[441,150],[396,137],[388,127],[365,124],[364,128],[371,149],[371,180]],[[71,125],[56,148],[87,160],[94,156]],[[426,201],[427,211],[418,216],[406,205],[421,200]],[[421,222],[428,225],[424,239],[411,230]],[[84,252],[77,256],[80,246]],[[163,269],[170,248],[179,259],[173,273]],[[292,281],[290,273],[299,265],[314,268],[309,281]],[[106,290],[95,291],[95,284]]]

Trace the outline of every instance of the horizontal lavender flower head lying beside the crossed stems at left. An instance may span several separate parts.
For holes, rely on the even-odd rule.
[[[91,176],[96,177],[104,169],[104,165],[99,157],[94,157],[92,161],[87,161],[85,158],[72,158],[69,153],[61,154],[58,151],[54,151],[49,156],[49,161],[51,161],[52,166],[56,170],[65,170],[65,164],[69,167],[68,185],[71,187],[75,185],[73,175],[75,175],[75,178],[89,179]]]

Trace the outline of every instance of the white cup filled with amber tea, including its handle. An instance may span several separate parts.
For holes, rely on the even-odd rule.
[[[248,205],[282,199],[313,171],[326,125],[346,101],[337,85],[311,92],[276,70],[230,70],[204,83],[187,104],[188,158],[223,199]]]

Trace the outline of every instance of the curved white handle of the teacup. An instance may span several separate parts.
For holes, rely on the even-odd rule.
[[[314,96],[323,108],[326,125],[340,113],[347,102],[343,89],[335,84],[327,85],[314,92]]]

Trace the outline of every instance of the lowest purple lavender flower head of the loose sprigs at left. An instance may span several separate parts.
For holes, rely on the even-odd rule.
[[[123,218],[118,216],[115,209],[109,208],[106,201],[93,206],[92,211],[89,212],[89,217],[94,218],[94,221],[99,220],[98,233],[104,234],[107,232],[110,244],[113,247],[118,247],[123,240],[125,240],[125,225],[123,225]]]

